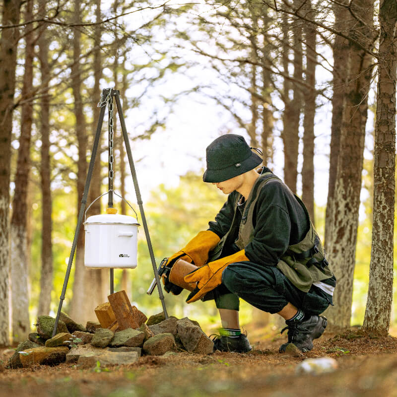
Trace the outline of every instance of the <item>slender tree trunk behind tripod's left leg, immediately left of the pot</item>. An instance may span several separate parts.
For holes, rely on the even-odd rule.
[[[74,20],[78,23],[80,15],[81,1],[74,0]],[[73,29],[73,65],[71,66],[71,87],[74,97],[74,115],[76,119],[75,130],[78,143],[77,161],[77,213],[81,205],[81,198],[84,192],[85,179],[87,176],[87,134],[85,132],[85,117],[83,113],[83,100],[81,97],[81,71],[80,71],[80,30],[78,27]],[[73,283],[73,297],[70,304],[70,316],[78,323],[83,323],[88,319],[91,297],[85,293],[85,267],[84,267],[84,230],[80,228],[76,256]],[[93,308],[94,309],[94,308]],[[92,310],[93,310],[92,309]]]

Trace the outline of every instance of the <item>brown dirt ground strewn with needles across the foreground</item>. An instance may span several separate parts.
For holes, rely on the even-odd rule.
[[[397,338],[360,330],[325,332],[300,357],[278,353],[286,336],[250,337],[247,354],[215,352],[144,356],[133,365],[79,369],[66,363],[7,369],[0,366],[0,396],[6,397],[235,397],[397,396]],[[260,340],[261,339],[261,340]],[[6,363],[10,349],[0,350]],[[334,358],[338,368],[320,375],[299,374],[306,358]]]

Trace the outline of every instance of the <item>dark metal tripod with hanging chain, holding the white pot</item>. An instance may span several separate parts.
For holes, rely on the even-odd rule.
[[[58,307],[58,313],[57,313],[57,317],[55,319],[55,325],[54,325],[54,330],[53,330],[53,334],[52,334],[53,336],[55,336],[55,334],[57,332],[59,317],[61,315],[62,304],[65,300],[67,282],[69,280],[70,270],[71,270],[71,266],[73,263],[74,252],[76,250],[78,235],[80,232],[82,219],[84,216],[85,206],[87,204],[88,190],[90,187],[92,172],[94,169],[95,157],[96,157],[97,151],[98,151],[99,138],[100,138],[101,131],[102,131],[102,124],[103,124],[103,119],[104,119],[104,115],[105,115],[106,104],[109,105],[109,192],[108,192],[109,199],[108,199],[108,205],[110,207],[113,206],[113,98],[116,99],[117,112],[119,114],[120,125],[121,125],[121,129],[123,132],[124,143],[126,145],[126,151],[127,151],[128,161],[130,164],[133,186],[134,186],[135,194],[136,194],[136,201],[139,206],[140,216],[142,218],[142,223],[143,223],[143,228],[145,231],[147,246],[149,249],[149,255],[150,255],[151,263],[153,266],[154,277],[156,279],[158,294],[160,297],[161,305],[163,307],[164,316],[166,319],[168,319],[167,309],[165,307],[165,302],[164,302],[164,295],[163,295],[163,291],[161,288],[160,279],[159,279],[158,272],[157,272],[156,261],[154,259],[152,243],[151,243],[150,236],[149,236],[149,229],[147,227],[146,217],[145,217],[145,213],[143,210],[143,202],[142,202],[142,199],[140,196],[138,181],[136,178],[135,166],[134,166],[133,160],[132,160],[130,141],[128,138],[126,123],[124,121],[124,116],[123,116],[123,109],[122,109],[121,101],[120,101],[120,91],[112,89],[112,88],[106,88],[106,89],[102,90],[102,97],[101,97],[100,102],[98,103],[98,107],[101,108],[101,111],[99,114],[99,120],[98,120],[98,126],[97,126],[96,133],[95,133],[94,144],[92,147],[91,159],[90,159],[90,164],[89,164],[88,172],[87,172],[87,179],[85,181],[85,186],[84,186],[84,193],[83,193],[83,197],[81,199],[81,206],[80,206],[80,210],[79,210],[79,214],[78,214],[78,218],[77,218],[76,231],[74,233],[73,243],[72,243],[70,256],[69,256],[69,262],[67,264],[64,286],[62,288],[62,294],[61,294],[60,303],[59,303],[59,307]],[[114,278],[113,277],[114,277],[113,269],[110,269],[110,291],[111,291],[111,294],[114,292],[113,291],[113,288],[114,288],[113,287],[114,286]]]

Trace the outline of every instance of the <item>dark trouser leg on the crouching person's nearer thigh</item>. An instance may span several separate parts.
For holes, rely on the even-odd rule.
[[[321,314],[331,299],[317,287],[305,293],[296,288],[275,266],[238,262],[228,265],[222,273],[222,284],[228,291],[256,308],[277,313],[292,303],[306,313]]]

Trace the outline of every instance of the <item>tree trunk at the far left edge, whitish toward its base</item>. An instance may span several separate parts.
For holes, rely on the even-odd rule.
[[[2,22],[18,24],[20,0],[3,0]],[[9,182],[12,110],[15,92],[17,28],[3,29],[0,39],[0,345],[9,344]]]

